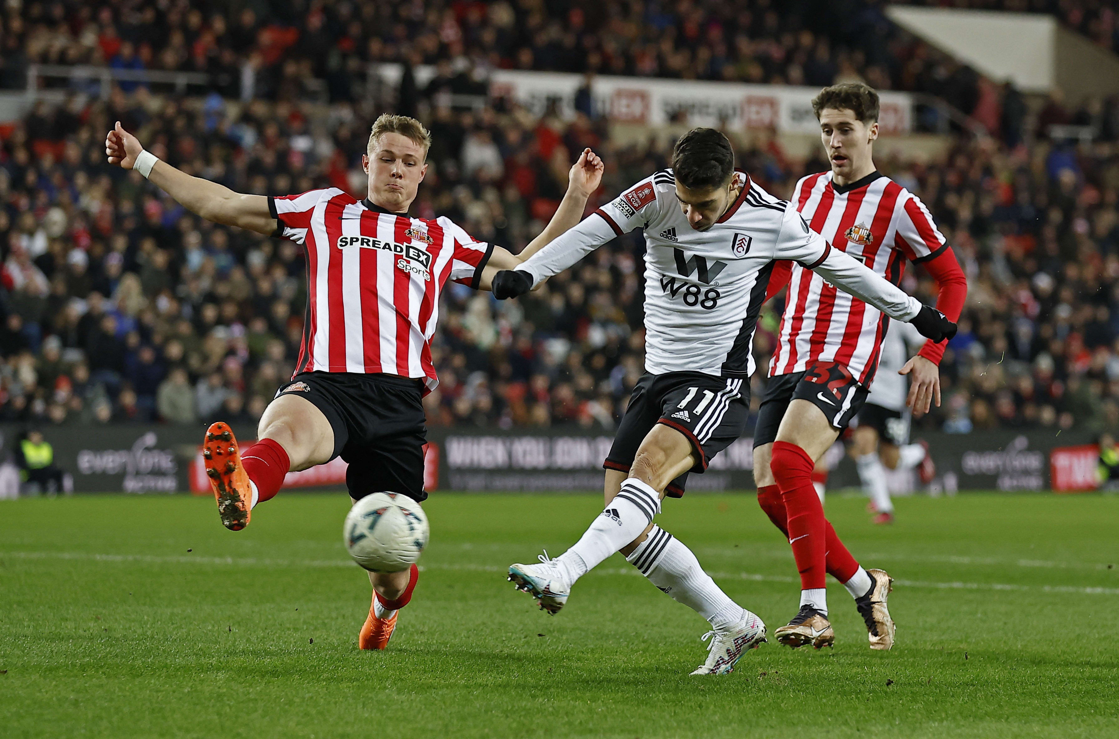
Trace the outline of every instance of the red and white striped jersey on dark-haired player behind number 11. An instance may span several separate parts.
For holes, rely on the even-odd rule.
[[[834,249],[899,284],[905,260],[928,261],[948,249],[921,200],[888,177],[874,172],[836,186],[831,171],[803,177],[793,205]],[[869,385],[878,365],[887,318],[819,274],[792,265],[770,376],[803,372],[816,361],[845,365]]]

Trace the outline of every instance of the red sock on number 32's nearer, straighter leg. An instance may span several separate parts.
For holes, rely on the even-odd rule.
[[[773,442],[770,468],[789,516],[789,544],[800,572],[801,590],[824,588],[827,574],[827,521],[812,487],[814,467],[816,462],[797,445]]]

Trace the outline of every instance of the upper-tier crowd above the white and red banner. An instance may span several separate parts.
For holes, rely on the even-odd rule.
[[[11,88],[26,85],[29,64],[91,64],[205,72],[223,95],[246,100],[290,100],[322,91],[321,81],[339,102],[361,94],[370,64],[442,59],[460,93],[500,67],[816,86],[863,78],[968,113],[980,96],[970,68],[863,0],[56,0],[8,3],[0,37],[0,87]]]

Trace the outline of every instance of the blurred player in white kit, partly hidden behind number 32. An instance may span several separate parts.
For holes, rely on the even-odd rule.
[[[891,324],[882,339],[882,358],[871,385],[866,404],[853,423],[850,453],[858,468],[863,490],[874,507],[874,523],[888,524],[894,520],[894,504],[890,499],[890,475],[886,470],[911,470],[919,467],[921,481],[928,484],[935,474],[929,446],[910,443],[911,414],[905,405],[910,394],[909,378],[901,374],[909,364],[908,357],[924,346],[924,337],[910,324]]]

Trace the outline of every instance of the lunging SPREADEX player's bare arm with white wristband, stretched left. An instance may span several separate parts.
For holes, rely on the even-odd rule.
[[[224,185],[176,169],[144,151],[140,141],[121,128],[120,121],[105,137],[105,155],[109,163],[137,169],[185,208],[207,221],[261,234],[275,233],[278,224],[269,212],[266,197],[234,193]]]

